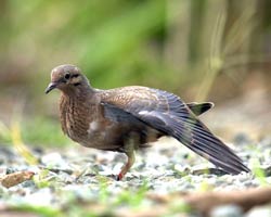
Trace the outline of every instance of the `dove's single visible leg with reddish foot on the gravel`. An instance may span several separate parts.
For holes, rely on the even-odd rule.
[[[130,133],[127,141],[125,142],[125,154],[127,155],[128,159],[127,163],[121,167],[120,173],[117,176],[117,180],[121,180],[127,171],[131,168],[136,161],[134,150],[137,149],[134,145],[137,144],[138,135]]]

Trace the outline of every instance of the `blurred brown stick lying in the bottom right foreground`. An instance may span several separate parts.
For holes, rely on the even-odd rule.
[[[271,203],[271,188],[256,188],[235,191],[218,192],[194,192],[194,193],[171,193],[166,195],[149,194],[149,199],[159,203],[168,204],[171,201],[183,201],[195,210],[204,216],[224,205],[236,205],[244,213],[260,205]]]

